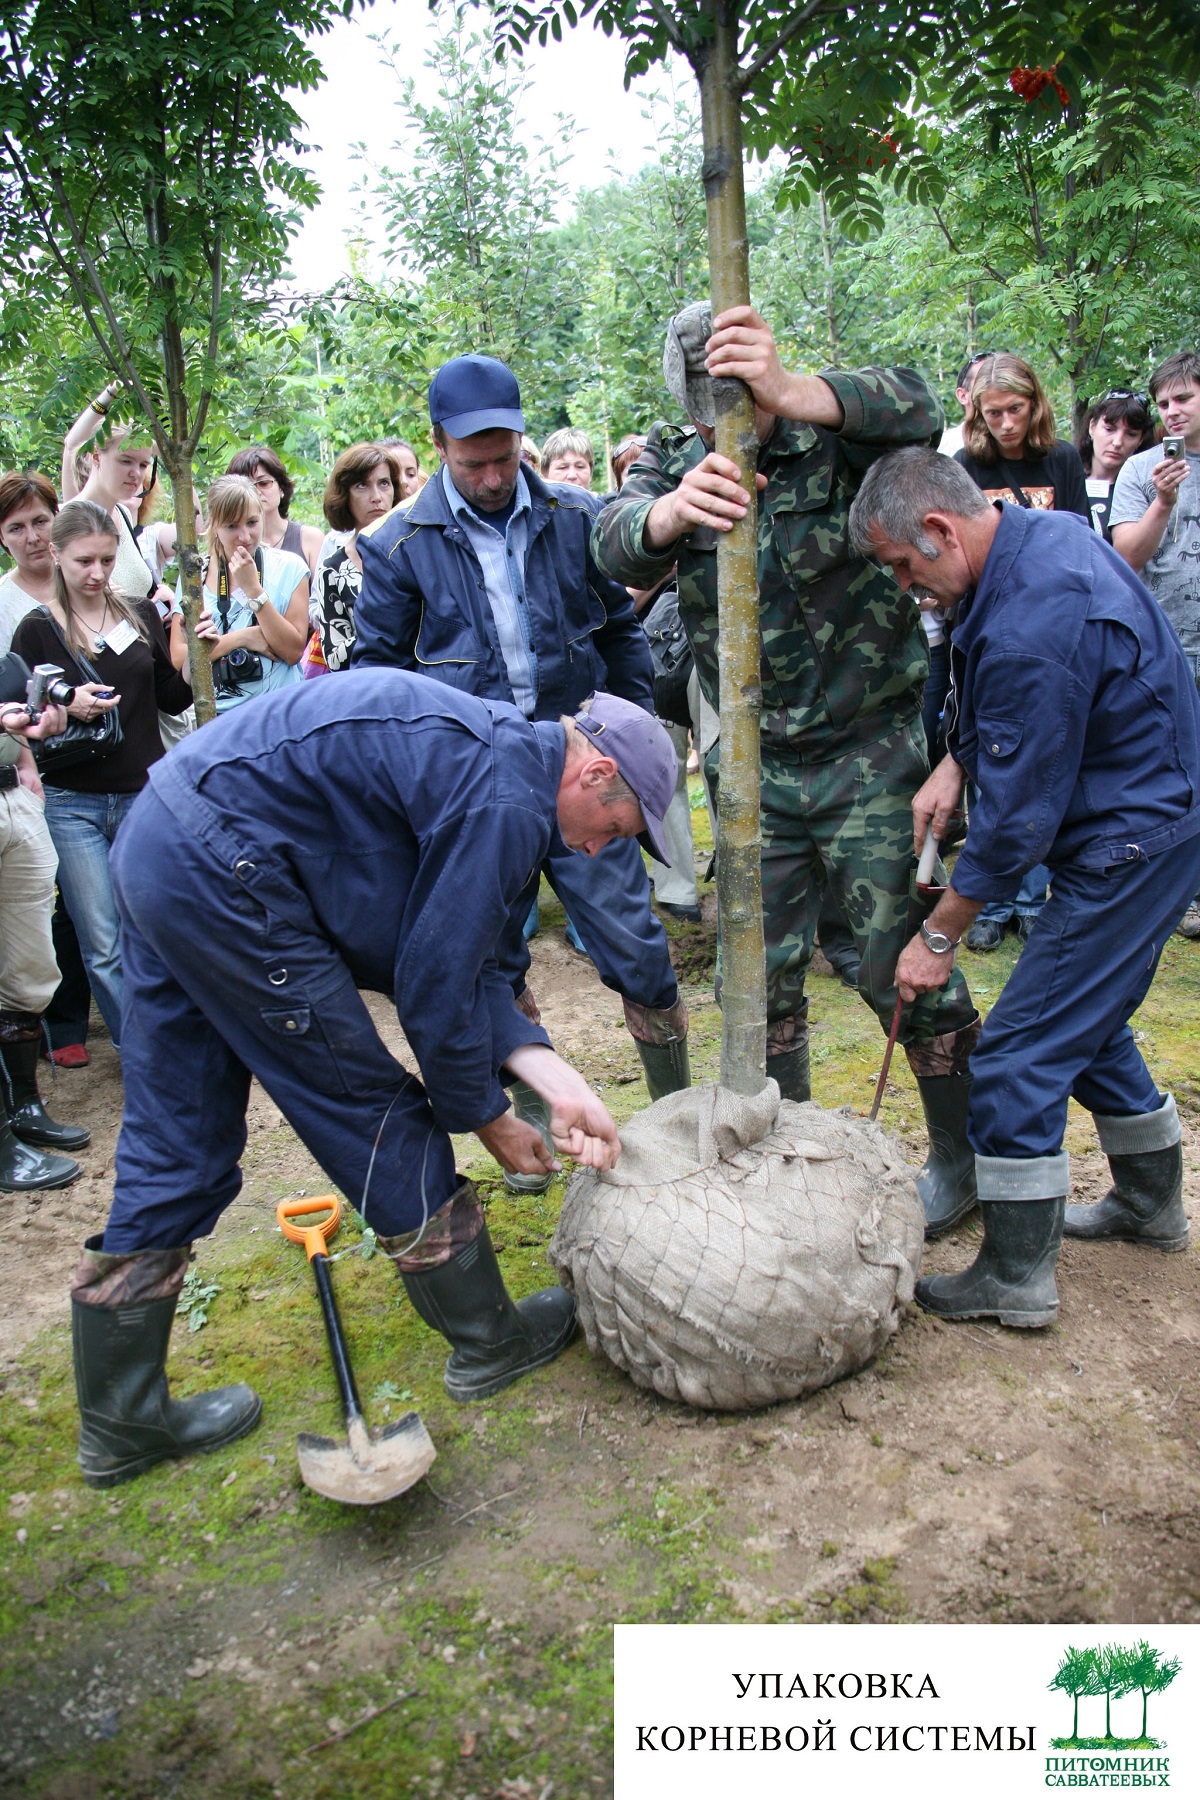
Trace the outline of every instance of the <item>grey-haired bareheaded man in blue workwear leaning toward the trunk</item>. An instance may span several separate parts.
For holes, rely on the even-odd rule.
[[[950,1319],[1049,1325],[1063,1235],[1187,1246],[1180,1125],[1130,1030],[1200,884],[1200,698],[1137,576],[1060,513],[991,506],[932,450],[867,475],[855,542],[914,596],[955,608],[948,756],[912,803],[941,837],[979,787],[952,886],[905,947],[905,999],[945,983],[986,900],[1036,862],[1051,900],[972,1055],[968,1138],[984,1240],[970,1269],[918,1283]],[[1067,1100],[1096,1118],[1112,1190],[1067,1206]]]

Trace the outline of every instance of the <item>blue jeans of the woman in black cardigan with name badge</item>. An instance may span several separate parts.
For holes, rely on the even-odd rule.
[[[108,1035],[121,1044],[121,941],[108,850],[137,794],[45,790],[45,823],[58,850],[58,886]]]

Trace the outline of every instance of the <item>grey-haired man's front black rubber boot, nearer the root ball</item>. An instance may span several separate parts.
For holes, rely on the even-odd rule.
[[[1065,1201],[984,1201],[984,1240],[961,1274],[928,1274],[916,1300],[943,1319],[999,1319],[1025,1328],[1058,1318],[1054,1264]]]

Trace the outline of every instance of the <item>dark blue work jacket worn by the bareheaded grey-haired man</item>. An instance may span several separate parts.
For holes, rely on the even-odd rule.
[[[979,787],[954,869],[1007,900],[1038,862],[1105,869],[1200,832],[1200,700],[1166,614],[1069,513],[1000,508],[950,639],[948,749]]]

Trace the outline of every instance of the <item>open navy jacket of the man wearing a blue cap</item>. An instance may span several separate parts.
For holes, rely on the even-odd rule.
[[[576,713],[596,689],[653,713],[649,646],[626,589],[592,562],[599,495],[525,470],[525,599],[538,671],[534,718]],[[513,700],[484,572],[441,473],[358,536],[353,664],[417,670],[488,700]]]

